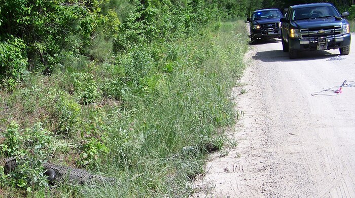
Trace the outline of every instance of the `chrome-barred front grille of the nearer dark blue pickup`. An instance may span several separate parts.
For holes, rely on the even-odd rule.
[[[341,26],[328,26],[328,27],[301,29],[300,32],[301,32],[301,38],[341,35]]]

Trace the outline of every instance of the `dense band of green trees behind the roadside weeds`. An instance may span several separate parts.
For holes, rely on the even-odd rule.
[[[245,16],[250,5],[202,0],[5,1],[0,5],[2,84],[13,86],[28,72],[82,71],[83,65],[68,67],[66,61],[103,61],[113,51],[173,41],[191,34],[196,25]]]

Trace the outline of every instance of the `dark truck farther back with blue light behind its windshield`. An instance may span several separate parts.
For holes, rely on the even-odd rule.
[[[258,39],[280,38],[279,22],[282,17],[278,9],[254,11],[251,18],[246,18],[250,22],[250,38],[252,42],[256,42]]]

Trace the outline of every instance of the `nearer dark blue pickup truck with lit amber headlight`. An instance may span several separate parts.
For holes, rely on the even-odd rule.
[[[349,23],[332,4],[315,3],[291,6],[281,18],[281,40],[284,52],[297,58],[298,51],[339,49],[341,55],[350,51]]]

